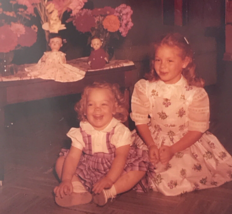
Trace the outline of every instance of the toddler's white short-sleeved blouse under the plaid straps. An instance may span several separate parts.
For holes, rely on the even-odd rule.
[[[113,144],[116,148],[125,145],[131,145],[131,132],[130,130],[123,125],[119,120],[113,118],[108,126],[98,131],[94,129],[94,127],[87,121],[80,122],[80,127],[89,135],[91,135],[92,140],[92,152],[104,152],[108,153],[107,145],[106,145],[106,134],[107,132],[112,131],[114,129],[114,134],[111,138],[111,144]],[[85,143],[83,141],[82,134],[80,132],[80,128],[71,128],[67,133],[67,136],[72,140],[72,146],[82,150],[85,147]]]

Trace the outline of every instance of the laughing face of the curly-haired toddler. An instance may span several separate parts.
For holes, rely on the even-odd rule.
[[[103,130],[115,114],[115,101],[108,89],[95,88],[89,91],[86,103],[86,117],[96,129]]]

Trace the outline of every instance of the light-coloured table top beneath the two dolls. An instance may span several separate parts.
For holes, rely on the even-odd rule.
[[[134,63],[130,60],[111,60],[109,63],[107,63],[105,65],[104,68],[101,69],[91,69],[90,66],[87,63],[87,59],[88,57],[83,57],[83,58],[77,58],[77,59],[73,59],[73,60],[69,60],[67,61],[67,64],[70,64],[74,67],[79,68],[80,70],[86,72],[86,75],[93,75],[93,72],[101,72],[101,71],[107,71],[107,70],[115,70],[117,68],[125,68],[125,69],[129,69],[130,67],[134,67]],[[25,67],[29,66],[31,64],[25,64],[25,65],[17,65],[16,66],[16,70],[17,73],[15,73],[14,75],[10,75],[10,76],[1,76],[0,75],[0,84],[1,82],[9,82],[9,81],[21,81],[21,80],[31,80],[34,79],[31,76],[27,75],[28,72],[25,71]],[[41,81],[45,81],[42,79],[38,79]]]

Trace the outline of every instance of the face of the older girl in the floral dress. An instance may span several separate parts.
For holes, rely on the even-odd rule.
[[[183,68],[189,63],[188,58],[181,57],[181,49],[168,45],[161,45],[155,53],[154,68],[160,79],[167,84],[174,84],[181,78]]]

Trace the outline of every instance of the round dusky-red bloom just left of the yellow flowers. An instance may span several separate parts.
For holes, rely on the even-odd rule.
[[[20,35],[18,38],[18,44],[22,47],[30,47],[37,40],[37,34],[30,27],[25,26],[25,34]]]

